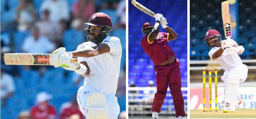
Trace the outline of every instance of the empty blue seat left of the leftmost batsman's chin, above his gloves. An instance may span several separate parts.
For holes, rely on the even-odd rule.
[[[66,30],[63,35],[63,43],[66,51],[74,51],[77,46],[84,41],[84,33],[81,30],[70,29]]]

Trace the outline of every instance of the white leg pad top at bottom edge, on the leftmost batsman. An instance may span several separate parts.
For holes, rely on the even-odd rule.
[[[92,93],[87,101],[86,119],[107,119],[106,96],[101,92]]]

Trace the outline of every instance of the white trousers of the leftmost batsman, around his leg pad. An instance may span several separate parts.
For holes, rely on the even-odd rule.
[[[87,106],[86,101],[89,95],[96,91],[96,89],[90,85],[83,85],[77,91],[77,103],[79,105],[80,111],[83,115],[86,116]],[[105,94],[105,93],[104,93]],[[120,107],[117,103],[117,97],[114,94],[105,94],[106,96],[106,108],[107,108],[107,117],[108,119],[117,119],[117,116],[120,112]]]

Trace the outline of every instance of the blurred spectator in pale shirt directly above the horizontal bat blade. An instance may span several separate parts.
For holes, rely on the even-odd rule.
[[[40,36],[37,27],[30,29],[31,36],[28,36],[22,46],[24,53],[52,53],[55,49],[55,45],[49,41],[46,37]]]

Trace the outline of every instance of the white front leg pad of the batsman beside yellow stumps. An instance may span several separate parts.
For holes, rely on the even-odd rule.
[[[230,70],[227,77],[226,91],[225,91],[225,105],[223,112],[235,111],[237,88],[239,88],[239,70],[233,68]]]

